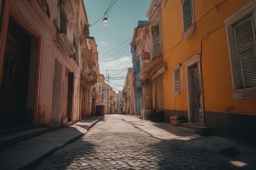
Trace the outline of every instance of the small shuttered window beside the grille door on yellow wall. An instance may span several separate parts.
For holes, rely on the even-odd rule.
[[[182,73],[181,73],[181,64],[173,68],[173,89],[174,94],[182,93]]]

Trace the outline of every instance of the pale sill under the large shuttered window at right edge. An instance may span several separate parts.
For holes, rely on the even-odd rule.
[[[256,87],[232,90],[234,99],[256,99]]]

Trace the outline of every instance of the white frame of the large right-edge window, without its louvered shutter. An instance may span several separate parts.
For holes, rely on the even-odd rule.
[[[236,48],[234,43],[234,32],[233,25],[249,15],[253,15],[254,26],[256,27],[256,1],[251,0],[245,4],[242,8],[238,9],[235,13],[230,15],[227,19],[224,20],[227,32],[227,43],[229,50],[229,62],[231,69],[231,81],[232,81],[232,94],[234,99],[248,99],[256,98],[256,87],[249,88],[238,88],[237,84],[242,82],[237,82],[237,79],[240,79],[240,73],[238,65],[235,64],[237,61]]]

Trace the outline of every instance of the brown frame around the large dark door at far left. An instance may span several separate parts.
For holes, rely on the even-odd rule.
[[[8,0],[3,0],[2,2],[2,13],[0,15],[0,68],[3,68],[4,53],[6,47],[8,23],[10,15],[14,19],[15,24],[20,26],[20,28],[31,38],[37,39],[37,54],[36,54],[36,76],[35,76],[35,90],[34,90],[34,108],[33,108],[33,121],[32,125],[37,126],[38,119],[38,103],[39,103],[39,82],[40,82],[40,62],[41,62],[41,44],[42,37],[34,28],[28,23],[22,16],[17,12],[17,10],[10,4]],[[0,82],[2,82],[3,70],[0,69]],[[0,84],[1,86],[1,84]]]

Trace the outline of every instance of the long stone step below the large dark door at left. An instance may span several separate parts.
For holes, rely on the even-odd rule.
[[[34,137],[36,135],[47,132],[49,128],[31,128],[27,130],[22,130],[19,132],[10,133],[0,137],[0,148],[7,146],[9,144],[14,144],[19,141],[23,141]]]

